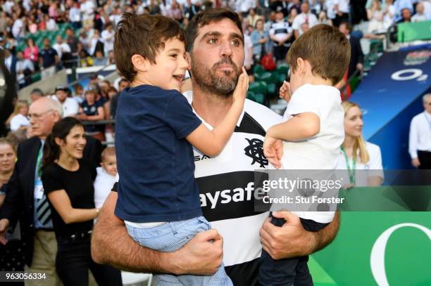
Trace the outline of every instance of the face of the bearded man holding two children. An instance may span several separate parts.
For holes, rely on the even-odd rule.
[[[230,19],[211,22],[199,28],[191,56],[194,84],[230,96],[244,65],[242,33]]]

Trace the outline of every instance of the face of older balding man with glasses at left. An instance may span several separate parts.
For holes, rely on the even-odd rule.
[[[46,106],[44,98],[36,100],[30,105],[29,116],[32,134],[39,138],[48,136],[59,119],[58,113]]]

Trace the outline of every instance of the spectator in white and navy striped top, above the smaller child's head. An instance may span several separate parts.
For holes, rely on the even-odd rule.
[[[270,39],[273,40],[273,51],[275,60],[284,61],[291,44],[293,30],[289,23],[285,21],[282,11],[275,13],[275,23],[270,28]]]

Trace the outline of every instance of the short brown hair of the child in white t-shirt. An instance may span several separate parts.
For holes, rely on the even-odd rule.
[[[337,84],[349,67],[350,44],[342,32],[330,25],[316,25],[301,35],[290,46],[287,63],[296,70],[296,59],[311,64],[311,71],[323,79]]]

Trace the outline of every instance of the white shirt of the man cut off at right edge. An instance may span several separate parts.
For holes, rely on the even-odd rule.
[[[410,123],[408,152],[411,159],[418,157],[418,151],[431,152],[431,114],[425,111],[413,117]]]

